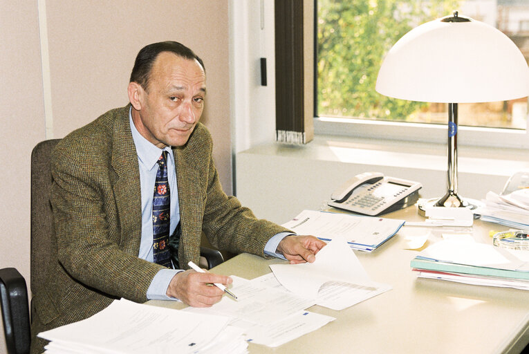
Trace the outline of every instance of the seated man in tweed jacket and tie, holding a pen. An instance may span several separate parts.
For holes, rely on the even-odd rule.
[[[53,279],[35,294],[32,353],[42,330],[89,317],[124,297],[212,306],[230,277],[195,272],[201,232],[215,248],[314,261],[313,236],[258,220],[224,194],[210,133],[198,123],[205,68],[176,42],[140,50],[130,104],[73,131],[53,153],[51,203],[57,238]]]

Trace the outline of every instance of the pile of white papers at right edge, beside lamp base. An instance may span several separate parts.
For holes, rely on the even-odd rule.
[[[519,230],[529,229],[529,188],[505,195],[488,192],[483,202],[485,206],[474,211],[481,215],[481,220]]]

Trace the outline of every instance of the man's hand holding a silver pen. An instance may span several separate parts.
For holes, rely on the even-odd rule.
[[[221,301],[224,294],[221,289],[212,284],[228,285],[232,282],[232,278],[224,275],[186,270],[179,272],[171,279],[167,288],[167,296],[176,297],[189,306],[210,307]]]

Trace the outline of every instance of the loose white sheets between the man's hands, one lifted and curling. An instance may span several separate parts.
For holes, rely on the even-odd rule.
[[[232,276],[238,298],[185,311],[233,317],[249,342],[276,347],[335,318],[306,310],[315,304],[342,310],[391,289],[369,279],[346,241],[335,239],[314,263],[270,265],[273,273],[252,280]]]

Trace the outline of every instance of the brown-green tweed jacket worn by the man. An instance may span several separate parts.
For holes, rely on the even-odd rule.
[[[73,131],[52,156],[57,260],[53,279],[34,294],[32,332],[84,319],[113,299],[147,301],[161,265],[138,258],[141,194],[138,155],[129,125],[130,104]],[[212,160],[212,138],[198,123],[174,150],[180,223],[180,265],[198,263],[201,232],[214,248],[263,254],[266,242],[286,231],[258,220],[224,194]]]

